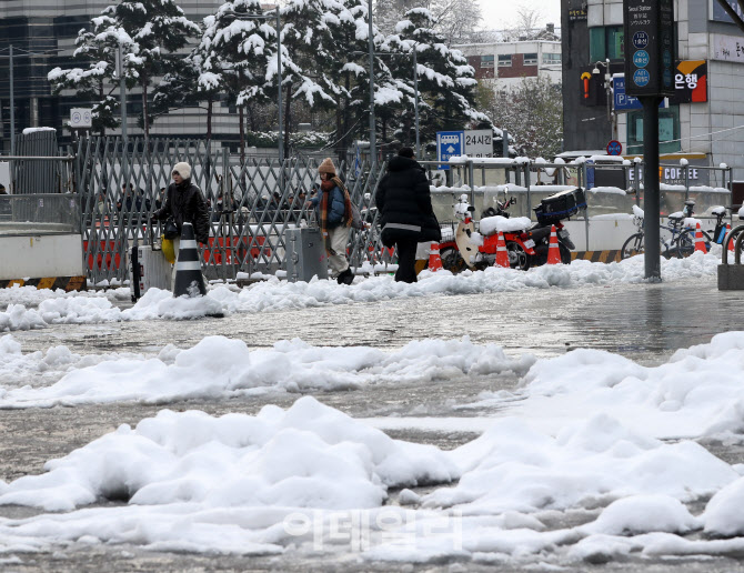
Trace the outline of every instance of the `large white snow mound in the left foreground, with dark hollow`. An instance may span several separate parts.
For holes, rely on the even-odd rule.
[[[374,507],[388,486],[458,475],[436,448],[393,440],[310,396],[286,411],[264,406],[257,416],[163,410],[44,470],[4,485],[0,504],[69,511],[113,499],[205,509]]]

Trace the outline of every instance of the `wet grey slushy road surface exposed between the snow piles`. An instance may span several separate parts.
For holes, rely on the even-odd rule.
[[[500,294],[431,296],[381,303],[354,303],[300,311],[233,314],[193,322],[145,321],[99,325],[58,325],[43,331],[16,332],[24,352],[64,344],[76,353],[141,352],[155,354],[168,343],[180,348],[203,336],[221,334],[249,346],[301,338],[315,345],[400,348],[423,338],[462,338],[495,343],[510,355],[551,356],[574,348],[605,350],[636,362],[665,362],[675,350],[706,343],[720,332],[744,330],[744,293],[721,292],[714,278],[662,284],[617,284],[561,290],[521,290]],[[462,378],[429,383],[370,384],[359,390],[318,392],[323,403],[355,418],[474,416],[477,409],[458,404],[479,400],[484,391],[512,390],[517,374]],[[105,404],[49,410],[0,411],[0,478],[6,481],[43,471],[47,460],[66,455],[121,423],[137,424],[162,408],[203,410],[221,415],[255,413],[268,403],[286,408],[299,394],[177,402],[163,405]],[[489,413],[492,413],[491,411]],[[450,449],[472,440],[469,432],[396,430],[393,438]],[[704,444],[728,463],[744,462],[744,448]],[[32,515],[36,510],[0,506],[0,516]],[[561,524],[557,523],[556,526]],[[130,546],[76,546],[39,554],[21,554],[8,571],[516,571],[511,565],[430,563],[375,564],[355,555],[298,559],[157,554]],[[552,565],[551,565],[552,566]],[[533,569],[541,567],[539,561]],[[550,566],[546,565],[547,569]],[[571,566],[570,571],[656,572],[744,571],[738,556],[726,559],[631,560],[604,565]]]

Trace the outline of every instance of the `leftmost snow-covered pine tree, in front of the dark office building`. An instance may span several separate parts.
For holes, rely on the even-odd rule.
[[[128,58],[124,61],[124,74],[131,88],[137,79],[130,64],[137,57],[138,46],[117,22],[109,17],[93,18],[92,31],[81,29],[76,39],[73,57],[82,64],[80,68],[54,68],[47,76],[57,94],[63,90],[74,91],[83,101],[92,102],[93,131],[101,135],[107,129],[119,125],[119,98],[112,96],[118,88],[115,78],[119,46],[124,47]]]

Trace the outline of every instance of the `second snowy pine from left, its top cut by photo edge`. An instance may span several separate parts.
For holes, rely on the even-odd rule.
[[[153,79],[168,72],[178,73],[180,57],[187,39],[200,33],[174,0],[120,0],[102,12],[122,28],[138,46],[132,63],[142,89],[142,128],[150,133],[148,89]]]

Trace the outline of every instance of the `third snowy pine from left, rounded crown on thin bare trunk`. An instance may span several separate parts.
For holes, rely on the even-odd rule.
[[[245,105],[269,102],[271,93],[277,91],[272,88],[277,30],[273,19],[263,19],[268,16],[271,14],[264,12],[260,0],[225,2],[204,20],[199,47],[203,62],[199,90],[209,94],[221,87],[238,105],[241,153],[245,141]]]

